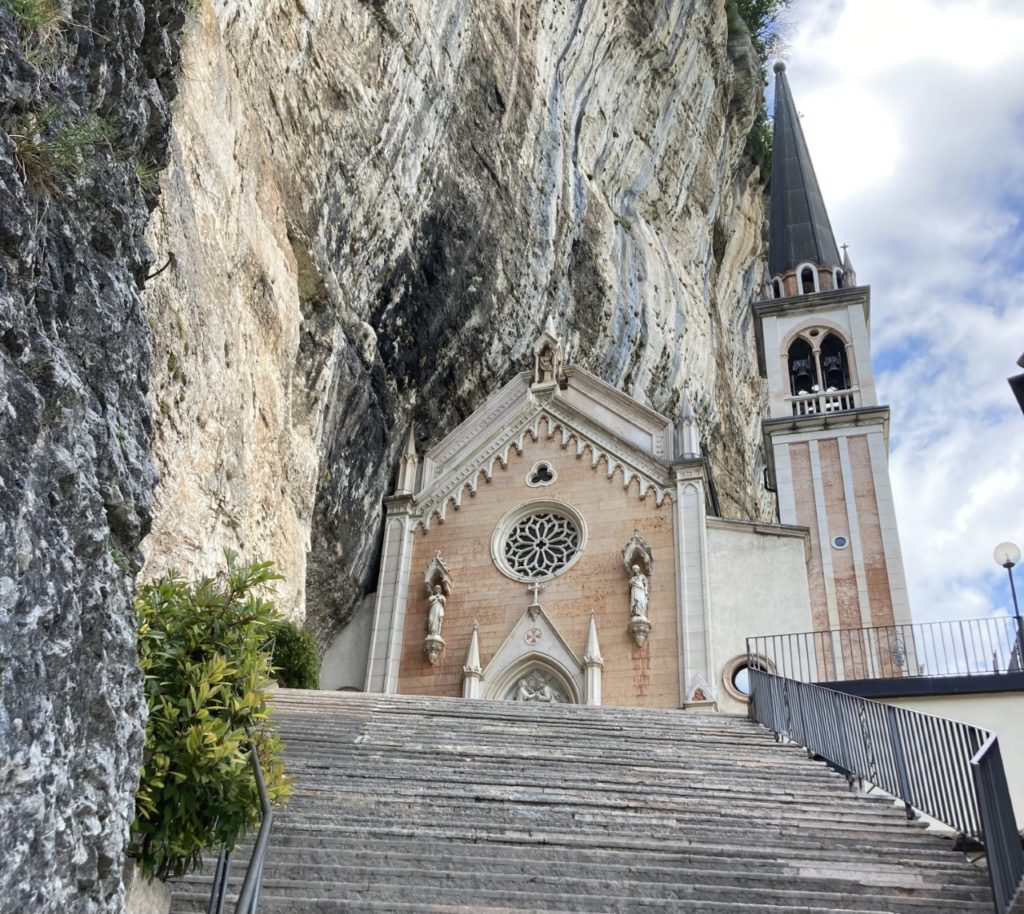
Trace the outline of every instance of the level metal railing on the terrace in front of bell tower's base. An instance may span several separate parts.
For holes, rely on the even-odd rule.
[[[1021,669],[1014,616],[767,635],[746,640],[760,665],[803,683],[990,676]]]

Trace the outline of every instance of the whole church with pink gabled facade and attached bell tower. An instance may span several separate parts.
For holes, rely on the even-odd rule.
[[[782,64],[768,270],[753,307],[778,522],[720,517],[688,398],[662,416],[566,363],[548,316],[532,363],[447,437],[421,454],[409,433],[366,691],[738,711],[748,636],[910,620],[870,291]]]

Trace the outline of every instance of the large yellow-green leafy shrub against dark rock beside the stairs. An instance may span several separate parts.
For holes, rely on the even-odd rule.
[[[135,600],[150,719],[129,853],[147,877],[196,869],[205,848],[232,846],[256,825],[252,743],[271,800],[288,794],[280,741],[261,732],[278,619],[267,584],[280,575],[225,555],[216,577],[167,574]]]

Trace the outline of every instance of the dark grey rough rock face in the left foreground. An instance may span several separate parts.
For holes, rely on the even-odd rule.
[[[27,20],[43,7],[0,5],[0,911],[62,914],[120,910],[134,816],[139,176],[165,156],[184,16],[81,0]]]

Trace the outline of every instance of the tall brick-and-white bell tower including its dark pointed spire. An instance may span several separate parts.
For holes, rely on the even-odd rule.
[[[889,481],[889,407],[874,391],[870,289],[840,256],[785,64],[775,64],[766,298],[767,475],[779,520],[811,529],[815,628],[910,621]]]

